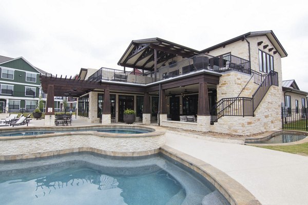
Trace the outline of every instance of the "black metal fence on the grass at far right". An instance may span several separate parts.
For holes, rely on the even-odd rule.
[[[308,131],[307,108],[281,108],[282,129]]]

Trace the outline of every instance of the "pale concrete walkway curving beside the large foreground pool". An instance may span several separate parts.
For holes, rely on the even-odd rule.
[[[263,205],[308,204],[308,157],[166,132],[166,145],[241,183]]]

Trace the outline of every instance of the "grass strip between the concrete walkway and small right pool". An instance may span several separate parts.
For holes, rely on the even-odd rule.
[[[256,146],[256,147],[308,156],[308,142],[299,145]]]

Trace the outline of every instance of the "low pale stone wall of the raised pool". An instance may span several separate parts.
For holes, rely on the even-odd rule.
[[[158,132],[139,134],[139,136],[118,136],[119,134],[102,134],[98,132],[86,133],[55,133],[45,137],[9,137],[0,140],[0,160],[5,156],[18,156],[16,159],[35,157],[33,153],[50,153],[60,150],[79,150],[93,148],[105,152],[146,152],[159,149],[165,144],[165,132],[156,128]],[[120,154],[121,155],[121,154]]]

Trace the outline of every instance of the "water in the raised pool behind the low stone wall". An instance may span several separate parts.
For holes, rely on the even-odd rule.
[[[8,131],[0,134],[0,137],[10,137],[10,136],[29,136],[29,135],[41,135],[41,134],[50,134],[55,132],[81,132],[81,131],[97,131],[97,132],[108,132],[108,133],[118,133],[118,134],[141,134],[148,133],[147,130],[139,129],[98,129],[98,128],[89,128],[84,130],[62,130],[62,131]]]

